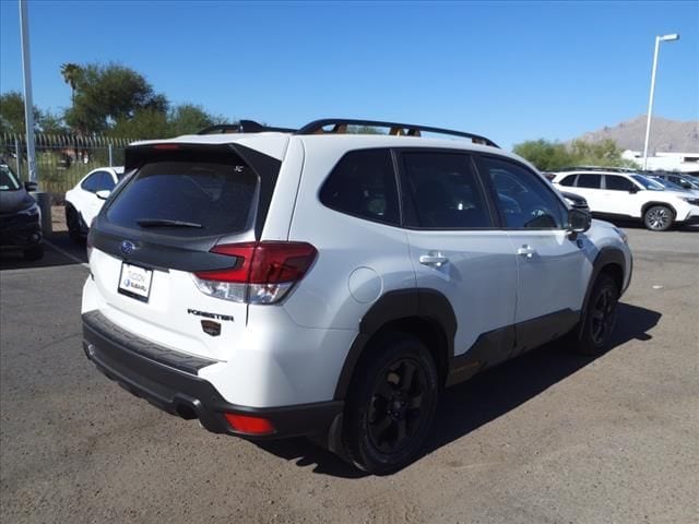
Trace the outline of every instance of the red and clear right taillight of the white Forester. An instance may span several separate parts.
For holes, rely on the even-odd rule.
[[[212,297],[247,303],[274,303],[300,281],[318,251],[306,242],[224,243],[212,253],[234,258],[225,270],[199,271],[194,283]]]

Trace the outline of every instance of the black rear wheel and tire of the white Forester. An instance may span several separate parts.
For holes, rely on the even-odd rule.
[[[343,445],[355,466],[387,475],[419,456],[439,397],[437,368],[419,340],[399,333],[367,355],[350,385]]]

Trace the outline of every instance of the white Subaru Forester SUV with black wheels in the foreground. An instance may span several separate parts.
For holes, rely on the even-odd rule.
[[[84,350],[133,394],[386,474],[419,456],[442,388],[558,337],[608,344],[626,236],[489,140],[206,131],[131,145],[90,230]]]

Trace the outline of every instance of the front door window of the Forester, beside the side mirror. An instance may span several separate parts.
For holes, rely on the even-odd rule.
[[[493,180],[498,207],[508,228],[560,229],[567,211],[554,191],[536,175],[518,164],[484,157]]]

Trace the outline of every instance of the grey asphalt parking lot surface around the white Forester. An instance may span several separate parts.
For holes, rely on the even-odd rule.
[[[428,453],[388,477],[137,400],[83,356],[84,247],[2,254],[0,521],[699,522],[699,230],[626,230],[614,347],[549,345],[448,390]]]

